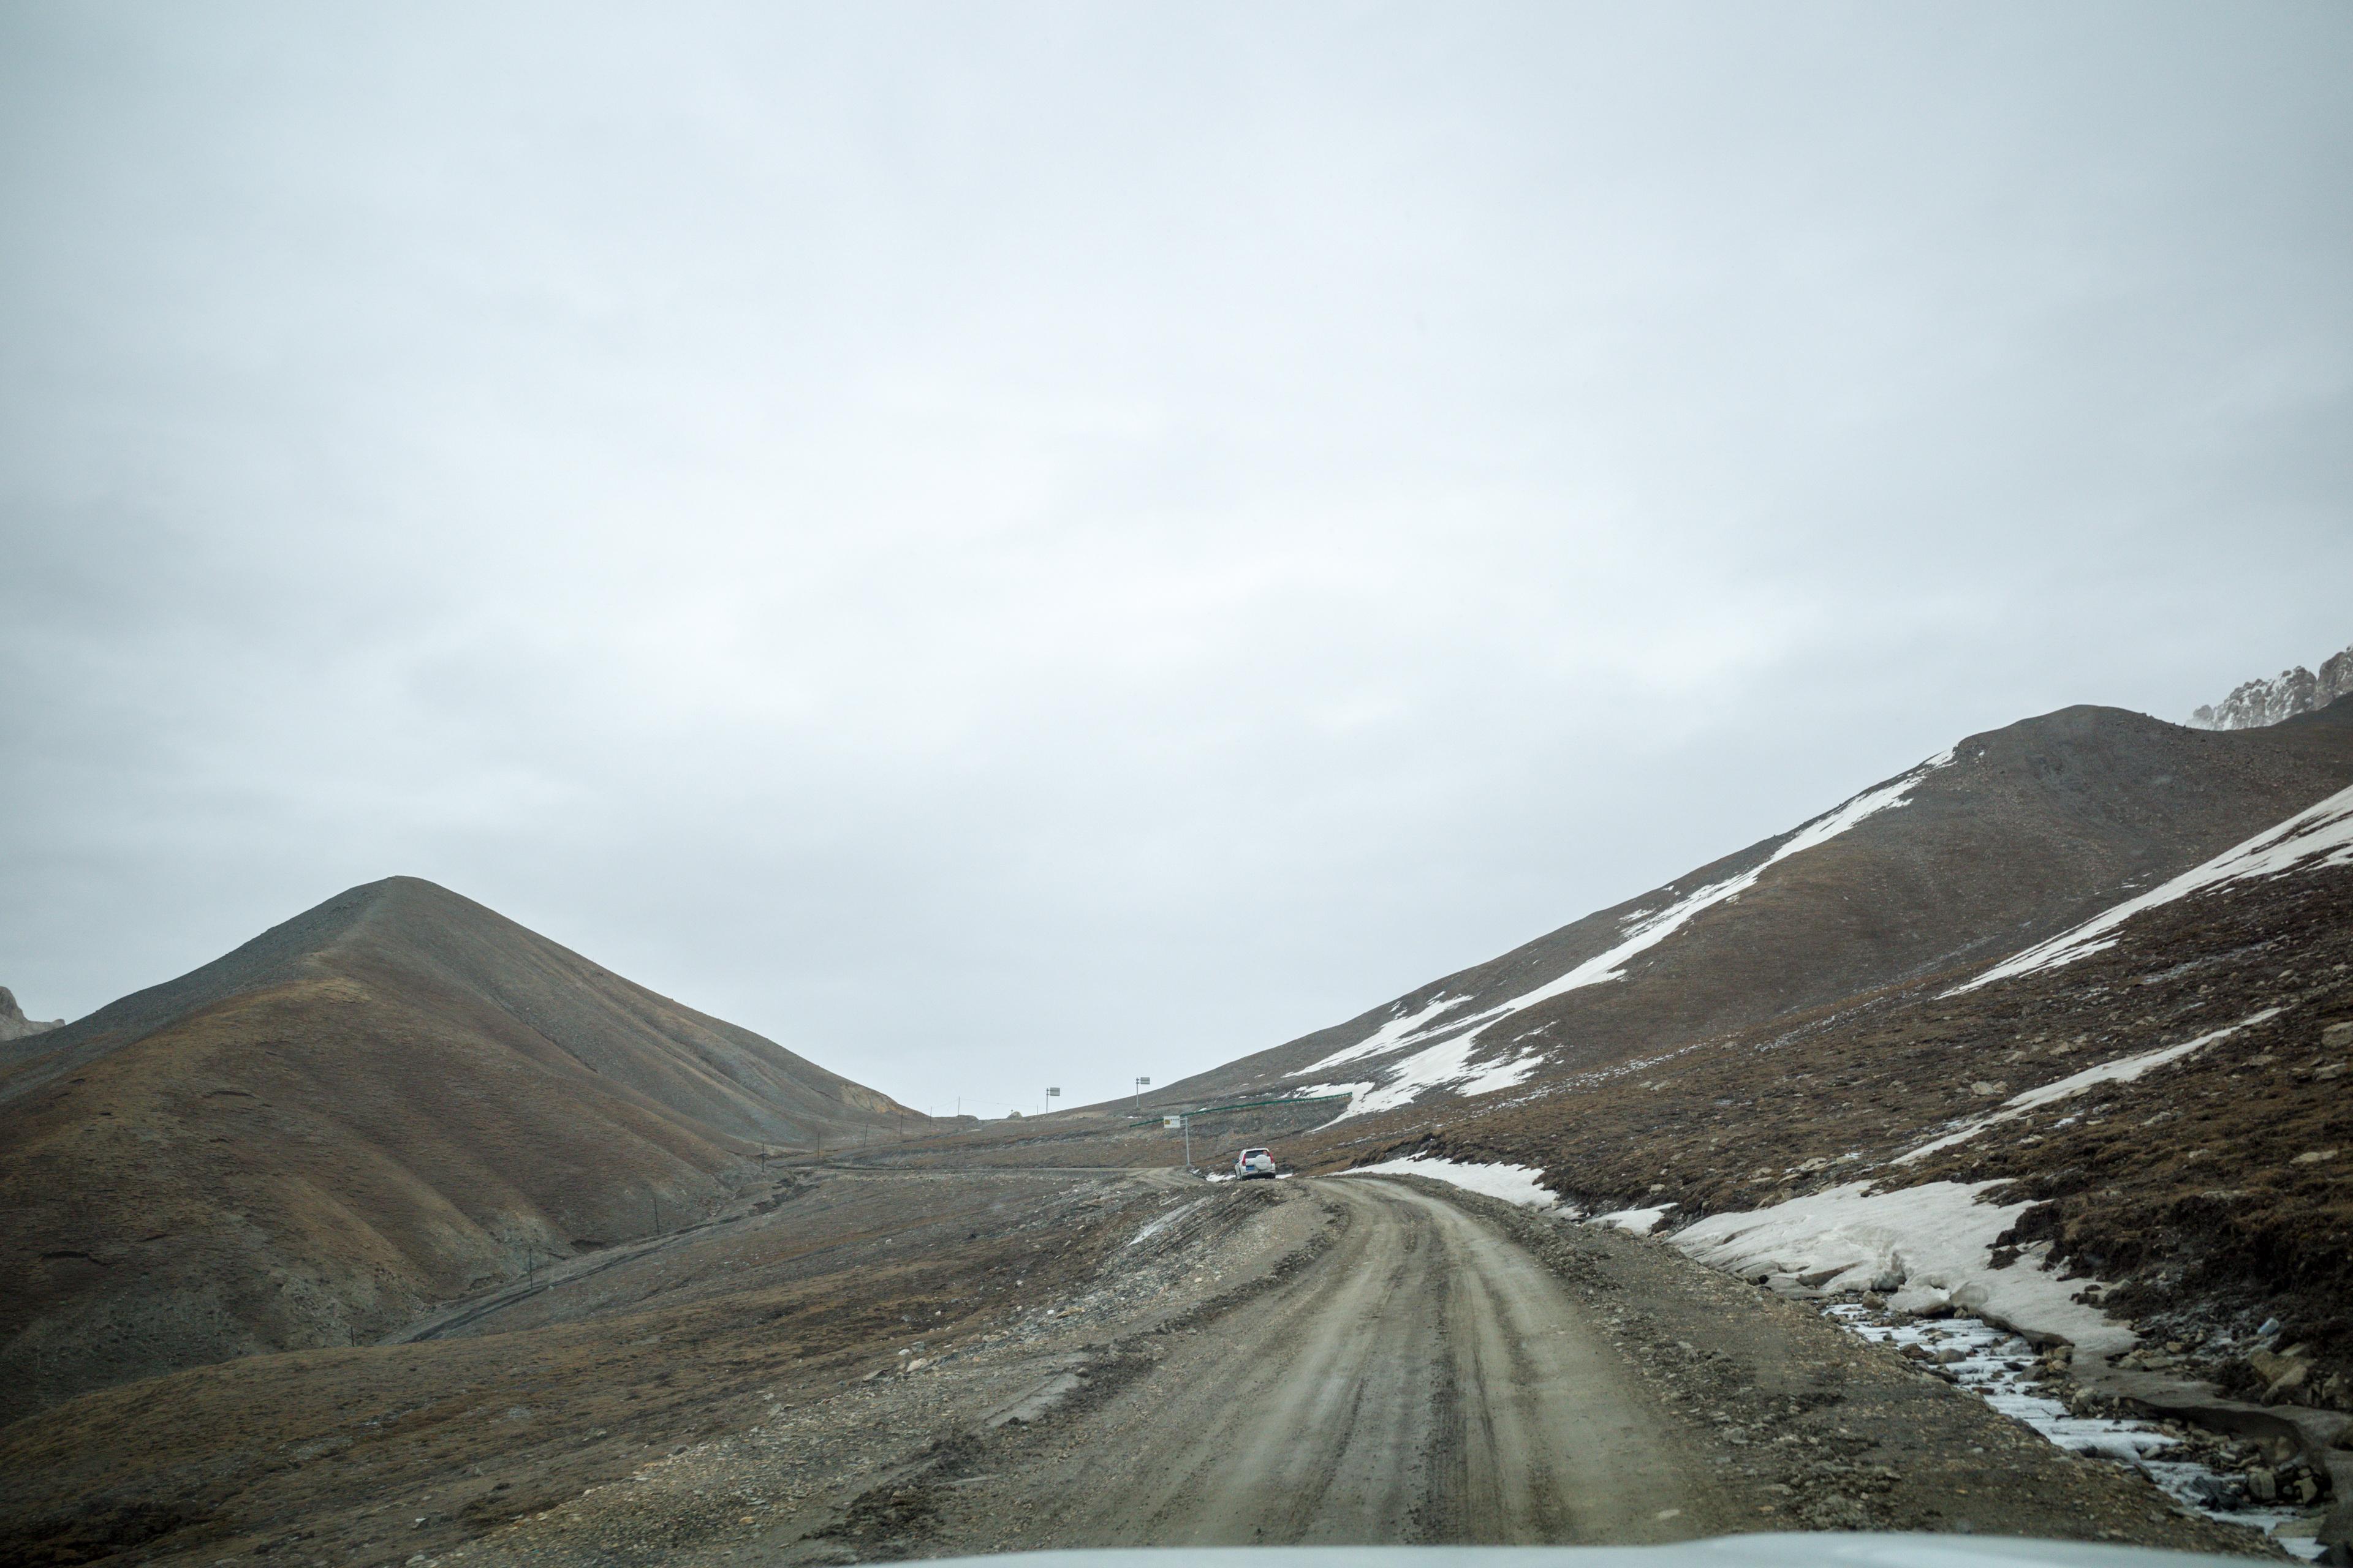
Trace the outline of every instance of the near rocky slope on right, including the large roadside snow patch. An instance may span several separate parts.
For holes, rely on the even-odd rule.
[[[2353,788],[2118,893],[1993,961],[1282,1154],[1518,1166],[1788,1295],[2021,1328],[2068,1408],[2285,1443],[2249,1495],[2292,1460],[2353,1542]]]

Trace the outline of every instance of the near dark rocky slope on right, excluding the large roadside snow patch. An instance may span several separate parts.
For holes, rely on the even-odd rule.
[[[1958,1182],[2024,1204],[2007,1246],[2104,1281],[2073,1291],[2188,1340],[2184,1363],[2245,1387],[2252,1352],[2304,1345],[2297,1385],[2353,1408],[2353,790],[2327,806],[2280,837],[2289,863],[2240,858],[2085,940],[1285,1152],[1534,1164],[1666,1225]]]

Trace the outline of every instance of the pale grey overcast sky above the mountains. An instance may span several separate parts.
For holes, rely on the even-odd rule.
[[[0,983],[409,872],[918,1107],[2353,639],[2353,7],[0,9]]]

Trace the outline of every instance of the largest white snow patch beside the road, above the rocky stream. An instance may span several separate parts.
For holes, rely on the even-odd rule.
[[[1831,1187],[1748,1213],[1687,1225],[1675,1246],[1744,1279],[1760,1274],[1788,1295],[1880,1288],[1897,1312],[1953,1307],[2026,1335],[2075,1345],[2078,1356],[2132,1347],[2132,1328],[2073,1300],[2033,1255],[1993,1267],[1993,1239],[2033,1204],[1979,1204],[2000,1182],[1927,1182],[1871,1192]]]

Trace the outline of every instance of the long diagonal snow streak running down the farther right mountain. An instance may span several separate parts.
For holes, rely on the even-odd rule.
[[[1831,839],[1835,839],[1838,835],[1854,827],[1857,823],[1878,816],[1880,811],[1908,804],[1913,788],[1937,769],[1951,766],[1951,762],[1953,762],[1953,750],[1946,748],[1944,752],[1929,757],[1927,762],[1918,764],[1915,769],[1894,778],[1892,783],[1885,783],[1875,790],[1864,790],[1861,795],[1845,802],[1835,811],[1826,811],[1824,816],[1817,816],[1812,823],[1805,823],[1802,827],[1798,827],[1798,832],[1788,837],[1788,842],[1784,842],[1769,856],[1751,865],[1746,872],[1734,872],[1722,882],[1711,882],[1708,886],[1678,898],[1664,910],[1635,910],[1633,914],[1626,917],[1626,924],[1619,926],[1621,940],[1614,947],[1593,954],[1584,964],[1572,966],[1567,973],[1555,976],[1544,985],[1537,985],[1534,990],[1520,992],[1518,997],[1499,1001],[1497,1006],[1485,1009],[1480,1013],[1468,1013],[1464,1018],[1447,1018],[1440,1023],[1424,1023],[1428,1018],[1435,1018],[1435,1013],[1445,1009],[1454,1009],[1461,1001],[1468,1001],[1468,997],[1452,997],[1452,999],[1433,997],[1431,1004],[1424,1006],[1412,1018],[1391,1018],[1367,1039],[1353,1046],[1344,1046],[1341,1051],[1322,1058],[1320,1063],[1311,1063],[1301,1072],[1322,1072],[1325,1067],[1334,1067],[1339,1063],[1379,1056],[1381,1051],[1405,1048],[1424,1039],[1431,1039],[1435,1034],[1449,1034],[1452,1030],[1464,1030],[1461,1034],[1452,1034],[1452,1039],[1440,1039],[1438,1044],[1417,1051],[1414,1056],[1407,1056],[1400,1063],[1393,1063],[1398,1077],[1393,1077],[1388,1084],[1384,1084],[1372,1093],[1358,1095],[1355,1103],[1348,1105],[1346,1112],[1341,1112],[1341,1119],[1365,1117],[1379,1110],[1395,1110],[1398,1105],[1417,1100],[1426,1088],[1452,1088],[1459,1095],[1478,1095],[1478,1093],[1489,1093],[1494,1088],[1511,1088],[1522,1079],[1527,1079],[1537,1070],[1537,1065],[1541,1065],[1544,1051],[1534,1048],[1513,1058],[1511,1063],[1473,1067],[1471,1048],[1478,1044],[1480,1034],[1485,1034],[1494,1023],[1511,1018],[1513,1013],[1525,1013],[1532,1006],[1541,1006],[1553,997],[1565,997],[1572,990],[1584,990],[1586,985],[1624,980],[1628,961],[1633,961],[1642,952],[1649,952],[1652,947],[1664,943],[1668,936],[1687,926],[1694,917],[1704,914],[1706,910],[1713,910],[1720,903],[1732,903],[1734,898],[1753,889],[1767,867],[1779,865],[1791,856],[1805,853],[1807,849],[1819,849]],[[1386,1044],[1377,1046],[1374,1041],[1386,1041]]]

